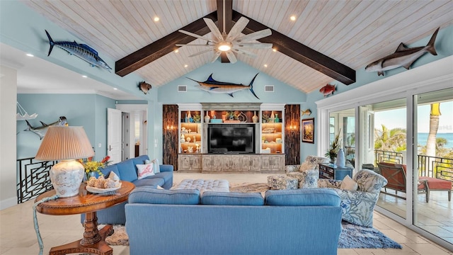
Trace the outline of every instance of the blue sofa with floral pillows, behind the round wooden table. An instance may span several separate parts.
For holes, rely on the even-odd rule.
[[[134,183],[135,187],[146,186],[149,188],[162,188],[169,189],[173,186],[173,166],[168,164],[159,165],[160,173],[154,176],[147,176],[144,179],[138,179],[137,164],[145,164],[145,160],[149,160],[148,155],[142,155],[133,159],[127,159],[117,164],[112,164],[101,169],[104,176],[108,176],[110,171],[115,172],[120,180],[130,181]],[[98,224],[122,224],[126,222],[125,217],[125,203],[112,206],[110,208],[99,210],[97,212]],[[85,214],[81,214],[81,222],[84,223]]]

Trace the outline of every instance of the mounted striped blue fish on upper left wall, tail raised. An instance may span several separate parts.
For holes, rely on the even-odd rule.
[[[52,49],[54,46],[59,47],[60,49],[68,52],[70,55],[74,55],[76,57],[79,57],[81,60],[85,60],[89,64],[91,64],[91,67],[103,67],[107,69],[108,72],[112,69],[111,67],[108,66],[107,63],[104,62],[104,60],[101,59],[101,57],[98,56],[98,52],[96,50],[93,50],[90,46],[86,44],[80,44],[77,43],[75,40],[74,42],[69,42],[69,41],[58,41],[55,42],[52,40],[50,37],[50,34],[45,30],[45,33],[47,35],[47,38],[49,38],[49,53],[47,54],[47,57],[50,56],[50,52],[52,52]]]

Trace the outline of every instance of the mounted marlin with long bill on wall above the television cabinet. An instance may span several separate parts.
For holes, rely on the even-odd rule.
[[[229,94],[229,96],[233,97],[234,92],[248,89],[249,91],[251,91],[253,96],[258,98],[258,96],[256,96],[255,94],[255,91],[253,91],[253,81],[255,81],[255,78],[258,74],[256,74],[255,77],[253,77],[252,81],[250,82],[250,84],[248,84],[248,86],[243,84],[234,84],[231,82],[216,81],[214,80],[214,78],[212,78],[212,74],[210,75],[210,77],[207,78],[206,81],[195,81],[194,79],[190,78],[187,79],[197,82],[198,84],[200,84],[200,89],[207,92],[217,94]]]

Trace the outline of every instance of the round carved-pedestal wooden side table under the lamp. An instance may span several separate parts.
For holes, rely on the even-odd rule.
[[[135,186],[128,181],[121,182],[121,188],[114,191],[114,194],[108,193],[108,195],[90,193],[86,191],[86,185],[82,183],[78,196],[48,200],[40,203],[36,207],[38,212],[45,215],[74,215],[85,213],[84,237],[69,244],[52,247],[49,252],[50,255],[71,253],[113,254],[113,249],[105,242],[105,237],[113,234],[113,228],[111,225],[107,225],[103,229],[98,230],[96,211],[109,208],[127,200],[129,193],[131,193]],[[42,193],[35,199],[35,203],[42,200],[42,198],[48,198],[54,195],[55,190]]]

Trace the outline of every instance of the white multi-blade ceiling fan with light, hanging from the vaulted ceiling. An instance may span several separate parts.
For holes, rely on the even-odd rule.
[[[225,8],[224,8],[225,10]],[[224,15],[225,17],[225,15]],[[226,53],[226,57],[228,57],[229,62],[235,63],[236,55],[234,53],[243,54],[247,57],[256,57],[256,54],[245,50],[249,49],[270,49],[272,48],[272,43],[262,43],[262,42],[253,42],[253,40],[258,40],[260,38],[265,38],[272,34],[272,31],[268,29],[256,31],[253,33],[249,33],[248,35],[241,36],[241,32],[244,28],[246,28],[248,24],[248,19],[241,17],[239,21],[234,24],[233,28],[229,31],[228,35],[225,33],[225,22],[223,23],[223,32],[220,33],[219,28],[215,25],[214,21],[210,18],[203,18],[208,28],[210,28],[212,35],[214,35],[214,40],[209,38],[205,38],[201,35],[197,35],[195,33],[190,33],[185,30],[178,30],[180,33],[184,33],[186,35],[193,36],[195,38],[200,38],[202,40],[206,40],[206,44],[177,44],[176,46],[204,46],[209,47],[207,50],[202,50],[197,52],[189,57],[195,57],[197,55],[201,55],[205,52],[214,51],[214,57],[212,57],[212,62],[217,60],[217,58],[222,54],[222,52]]]

